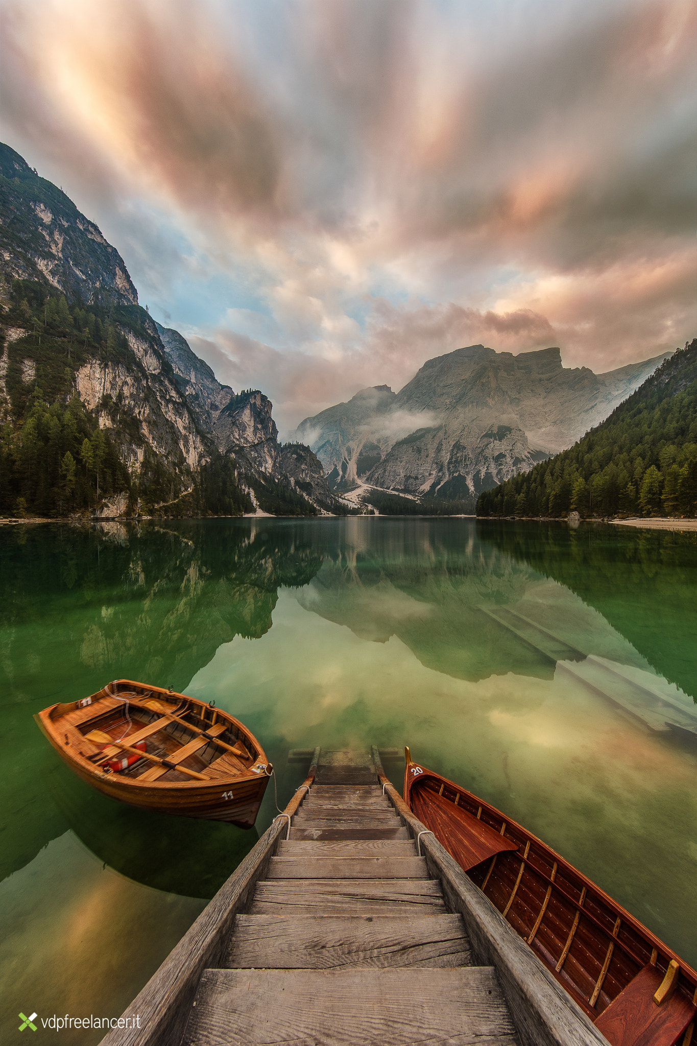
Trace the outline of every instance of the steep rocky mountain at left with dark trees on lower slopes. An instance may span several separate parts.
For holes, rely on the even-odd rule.
[[[226,417],[218,433],[233,400],[247,420]],[[3,513],[311,515],[334,504],[312,452],[278,445],[266,396],[235,397],[156,324],[118,251],[7,145],[0,425]]]

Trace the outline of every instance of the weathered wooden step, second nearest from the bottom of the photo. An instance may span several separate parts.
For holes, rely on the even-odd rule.
[[[471,964],[460,915],[238,915],[220,963],[253,970]]]

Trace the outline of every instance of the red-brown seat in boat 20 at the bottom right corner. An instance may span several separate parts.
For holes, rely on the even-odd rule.
[[[697,1006],[680,992],[657,1006],[653,994],[663,980],[655,967],[646,965],[612,1000],[596,1021],[611,1046],[673,1046]]]

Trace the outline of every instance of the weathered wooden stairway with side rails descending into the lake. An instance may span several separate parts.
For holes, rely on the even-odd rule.
[[[424,831],[376,749],[316,749],[103,1046],[605,1044]]]

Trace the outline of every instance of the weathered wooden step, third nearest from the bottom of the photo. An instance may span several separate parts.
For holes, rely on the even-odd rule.
[[[433,879],[276,879],[258,882],[250,915],[400,915],[445,911]]]

